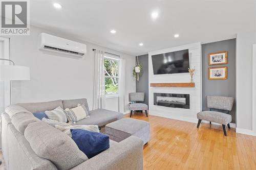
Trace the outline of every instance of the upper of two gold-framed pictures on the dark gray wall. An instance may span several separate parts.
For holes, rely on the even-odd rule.
[[[227,51],[208,54],[208,64],[209,65],[227,64]]]

